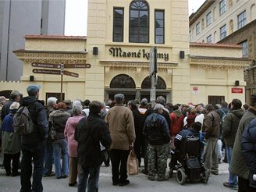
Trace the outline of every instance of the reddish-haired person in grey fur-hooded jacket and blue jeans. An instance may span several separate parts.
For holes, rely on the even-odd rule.
[[[49,123],[52,126],[52,148],[55,164],[55,175],[57,179],[66,178],[69,175],[69,155],[67,149],[67,140],[64,136],[66,121],[70,114],[66,112],[65,103],[59,102],[55,105],[56,110],[51,112]],[[62,166],[60,163],[62,155]]]

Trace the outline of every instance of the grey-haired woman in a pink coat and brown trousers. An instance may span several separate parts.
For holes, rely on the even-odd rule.
[[[77,178],[77,141],[75,140],[75,130],[76,125],[79,123],[80,119],[84,118],[82,115],[83,107],[80,102],[76,102],[73,105],[73,117],[70,117],[66,122],[66,127],[64,131],[65,137],[68,139],[68,149],[69,149],[69,186],[72,187],[76,184]]]

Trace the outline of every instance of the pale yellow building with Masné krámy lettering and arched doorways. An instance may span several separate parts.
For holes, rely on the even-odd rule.
[[[103,101],[120,92],[126,100],[149,98],[149,52],[157,46],[157,96],[174,104],[244,101],[243,72],[251,60],[240,45],[190,44],[187,12],[188,2],[180,0],[89,0],[87,37],[27,35],[25,48],[15,51],[24,63],[22,82],[0,83],[0,91],[41,84],[41,99],[59,97],[60,76],[32,63],[63,62],[64,69],[90,63],[90,69],[65,69],[79,78],[63,76],[63,98]]]

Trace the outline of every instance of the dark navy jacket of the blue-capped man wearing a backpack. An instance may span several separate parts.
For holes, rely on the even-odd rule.
[[[28,96],[22,98],[21,105],[28,107],[31,119],[35,125],[35,130],[32,133],[21,136],[21,143],[34,144],[45,140],[48,136],[48,119],[43,102],[35,97]]]

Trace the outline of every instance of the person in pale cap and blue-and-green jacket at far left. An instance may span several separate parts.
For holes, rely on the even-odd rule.
[[[4,166],[6,176],[11,175],[12,161],[12,176],[20,176],[19,160],[20,160],[20,135],[14,133],[12,123],[13,116],[20,106],[20,103],[14,101],[9,108],[9,115],[5,116],[2,122],[2,153],[4,154]]]

